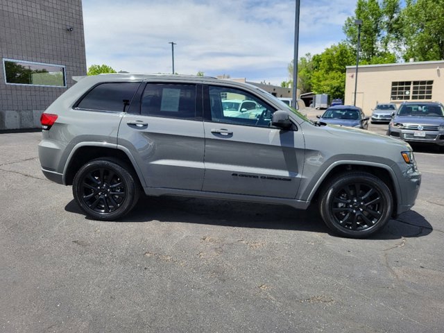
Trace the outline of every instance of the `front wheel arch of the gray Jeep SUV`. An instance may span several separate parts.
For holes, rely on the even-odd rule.
[[[398,201],[400,198],[400,189],[398,187],[398,182],[395,182],[396,176],[394,171],[385,164],[379,163],[357,163],[356,161],[341,161],[332,164],[323,175],[318,179],[316,185],[311,190],[308,201],[312,202],[318,200],[318,196],[325,187],[325,185],[330,182],[330,180],[341,173],[348,173],[351,171],[361,171],[370,173],[376,176],[387,185],[393,196],[393,216],[396,216],[398,211]]]

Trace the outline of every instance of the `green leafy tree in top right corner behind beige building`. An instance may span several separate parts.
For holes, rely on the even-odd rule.
[[[402,10],[404,60],[444,59],[444,0],[407,0]]]

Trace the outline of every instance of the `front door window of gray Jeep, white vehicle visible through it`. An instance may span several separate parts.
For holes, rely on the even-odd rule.
[[[248,92],[230,87],[210,86],[212,121],[268,127],[275,110]]]

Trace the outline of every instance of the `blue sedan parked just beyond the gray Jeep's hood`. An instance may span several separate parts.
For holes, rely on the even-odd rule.
[[[368,129],[368,119],[361,108],[352,105],[335,105],[325,110],[322,116],[316,116],[323,123]]]

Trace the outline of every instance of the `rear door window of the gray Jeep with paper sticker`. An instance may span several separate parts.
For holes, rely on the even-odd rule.
[[[194,119],[196,117],[196,85],[148,83],[142,96],[142,114]]]

